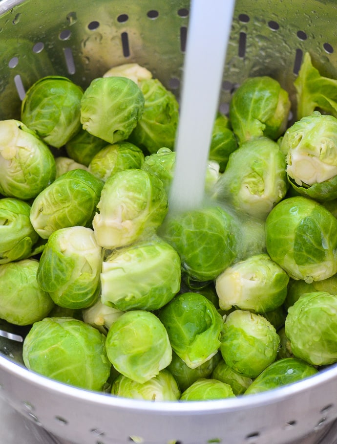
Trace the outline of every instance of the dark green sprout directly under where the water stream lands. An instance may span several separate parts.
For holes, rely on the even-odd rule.
[[[235,219],[219,206],[173,215],[160,233],[179,253],[188,280],[215,279],[237,254]]]

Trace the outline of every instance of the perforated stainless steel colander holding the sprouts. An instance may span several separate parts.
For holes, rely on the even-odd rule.
[[[65,75],[85,88],[109,67],[132,61],[179,97],[189,6],[188,0],[0,1],[0,118],[18,118],[25,89],[44,75]],[[335,0],[237,0],[221,111],[249,75],[271,75],[294,94],[306,51],[322,74],[337,78]],[[29,372],[17,342],[0,338],[0,350],[0,395],[23,417],[77,444],[294,443],[308,434],[318,440],[337,418],[336,366],[246,398],[151,403]]]

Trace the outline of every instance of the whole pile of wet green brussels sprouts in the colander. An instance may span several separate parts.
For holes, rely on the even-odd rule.
[[[31,371],[214,400],[337,362],[337,81],[309,54],[214,121],[205,204],[169,211],[175,96],[137,64],[40,79],[0,122],[0,318]],[[197,156],[198,153],[195,153]]]

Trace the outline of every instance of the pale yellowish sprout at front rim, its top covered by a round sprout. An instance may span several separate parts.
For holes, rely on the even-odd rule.
[[[143,383],[120,375],[113,381],[111,393],[123,398],[147,401],[177,401],[181,394],[174,377],[166,369]]]

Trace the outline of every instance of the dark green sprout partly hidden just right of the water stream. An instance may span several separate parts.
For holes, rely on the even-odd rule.
[[[209,159],[219,164],[221,173],[225,171],[229,156],[236,148],[236,137],[232,132],[228,117],[218,113],[211,135]]]

